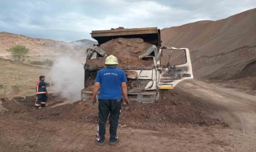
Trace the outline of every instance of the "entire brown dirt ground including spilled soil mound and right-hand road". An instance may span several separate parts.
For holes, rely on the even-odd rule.
[[[123,106],[116,146],[94,143],[98,116],[91,102],[41,111],[24,104],[29,112],[2,109],[0,151],[255,151],[255,96],[199,80],[182,82],[162,98],[167,94],[174,99]]]

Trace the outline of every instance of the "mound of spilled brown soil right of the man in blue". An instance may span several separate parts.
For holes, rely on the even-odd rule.
[[[155,104],[132,103],[124,108],[121,123],[134,128],[154,129],[155,125],[193,123],[197,125],[222,124],[215,118],[216,107],[181,91],[160,90],[160,99]]]

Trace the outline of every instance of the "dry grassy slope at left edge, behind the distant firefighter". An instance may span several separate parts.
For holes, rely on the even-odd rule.
[[[0,97],[18,97],[35,94],[38,75],[44,75],[43,67],[0,58]]]

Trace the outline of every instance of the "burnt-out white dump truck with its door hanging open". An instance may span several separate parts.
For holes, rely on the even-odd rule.
[[[159,98],[160,89],[174,89],[180,81],[193,78],[190,51],[187,48],[162,46],[160,29],[157,27],[93,30],[91,37],[98,41],[99,47],[116,38],[141,38],[144,42],[152,44],[152,47],[138,55],[140,60],[151,61],[151,66],[118,67],[126,72],[130,100],[154,103]],[[105,58],[111,55],[99,47],[87,49],[82,100],[90,99],[92,91],[88,88],[92,88],[97,72],[102,69],[102,67],[87,64],[88,61],[92,58]]]

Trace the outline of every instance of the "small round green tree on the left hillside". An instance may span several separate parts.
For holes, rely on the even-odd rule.
[[[12,46],[10,47],[10,49],[7,49],[7,51],[12,54],[14,60],[19,63],[23,63],[26,60],[26,58],[29,58],[29,50],[29,48],[22,45]]]

